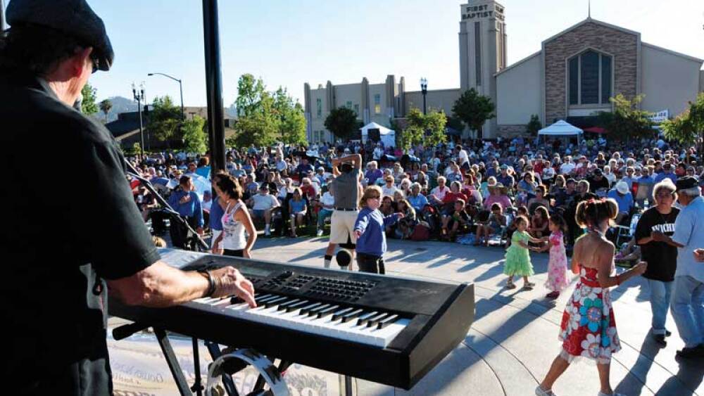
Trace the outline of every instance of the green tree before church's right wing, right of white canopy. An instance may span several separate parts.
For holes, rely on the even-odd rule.
[[[629,100],[622,94],[609,98],[614,110],[597,114],[597,124],[609,131],[613,139],[627,140],[650,137],[653,135],[652,113],[639,110],[638,105],[643,101],[643,95],[638,95]]]

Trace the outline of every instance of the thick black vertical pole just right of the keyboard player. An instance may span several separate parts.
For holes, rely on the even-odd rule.
[[[218,0],[203,0],[203,40],[206,53],[210,162],[212,170],[218,171],[225,170],[225,120],[223,120],[222,110]]]

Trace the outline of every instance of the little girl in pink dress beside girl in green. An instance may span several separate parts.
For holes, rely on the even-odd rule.
[[[565,239],[562,231],[566,229],[567,224],[565,219],[560,215],[553,215],[548,224],[551,234],[543,237],[543,241],[547,241],[541,250],[550,250],[550,260],[548,260],[548,280],[545,282],[545,287],[552,290],[547,298],[560,297],[560,291],[565,290],[570,285],[567,280],[567,255],[565,254]]]

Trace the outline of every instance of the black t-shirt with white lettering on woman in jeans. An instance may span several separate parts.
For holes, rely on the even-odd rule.
[[[674,234],[674,220],[677,219],[679,209],[672,208],[672,212],[662,215],[656,207],[643,212],[636,226],[636,241],[650,236],[652,231],[660,231],[667,236]],[[641,245],[641,257],[648,262],[648,269],[643,274],[648,279],[655,281],[672,282],[677,269],[677,248],[665,242],[650,241]]]

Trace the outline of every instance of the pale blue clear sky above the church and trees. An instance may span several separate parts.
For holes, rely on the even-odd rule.
[[[8,1],[6,1],[8,3]],[[99,99],[131,97],[130,84],[144,81],[149,101],[168,94],[186,106],[204,106],[203,16],[199,0],[88,0],[106,23],[116,58],[113,70],[91,83]],[[237,95],[245,72],[279,85],[303,101],[311,86],[384,82],[406,77],[416,89],[459,87],[459,0],[220,0],[220,41],[225,106]],[[503,0],[508,63],[540,49],[543,39],[586,18],[587,0]],[[703,0],[593,0],[592,18],[641,32],[641,39],[704,58]]]

